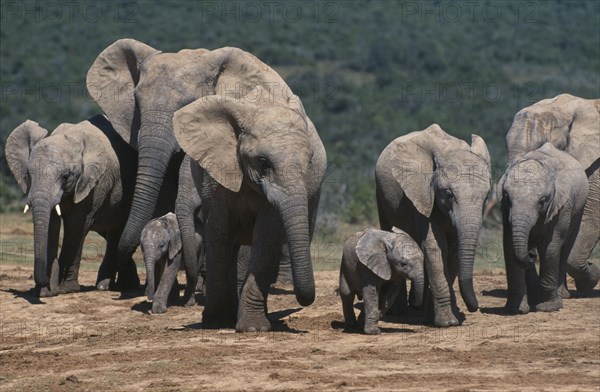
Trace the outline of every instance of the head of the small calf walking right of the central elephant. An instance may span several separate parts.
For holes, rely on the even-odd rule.
[[[369,229],[356,243],[356,255],[361,264],[379,278],[408,278],[413,282],[414,306],[421,306],[424,291],[423,252],[405,232],[393,228],[393,233]]]

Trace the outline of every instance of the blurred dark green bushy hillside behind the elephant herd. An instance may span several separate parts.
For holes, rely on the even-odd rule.
[[[3,0],[1,7],[2,151],[25,119],[53,129],[96,113],[85,75],[119,38],[163,51],[237,46],[282,74],[319,130],[331,165],[320,218],[329,236],[336,222],[377,225],[373,168],[392,139],[434,122],[465,140],[477,133],[498,177],[520,108],[563,92],[600,96],[597,1]],[[20,192],[2,161],[6,210]]]

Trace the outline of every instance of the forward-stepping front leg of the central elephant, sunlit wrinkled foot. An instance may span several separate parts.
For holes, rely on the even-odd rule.
[[[248,277],[238,309],[238,332],[266,332],[271,329],[267,320],[267,296],[276,271],[283,243],[283,226],[274,208],[259,213],[252,233],[252,250]]]

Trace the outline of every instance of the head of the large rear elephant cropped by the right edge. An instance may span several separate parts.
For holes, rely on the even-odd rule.
[[[569,94],[544,99],[520,110],[506,135],[508,162],[552,143],[587,169],[600,158],[600,99]]]

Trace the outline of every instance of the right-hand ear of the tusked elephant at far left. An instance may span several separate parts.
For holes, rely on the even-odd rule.
[[[79,203],[94,189],[108,166],[118,167],[118,161],[110,143],[103,137],[102,131],[90,121],[82,121],[73,127],[77,127],[80,131],[83,147],[83,170],[75,184],[74,192],[74,201]]]

